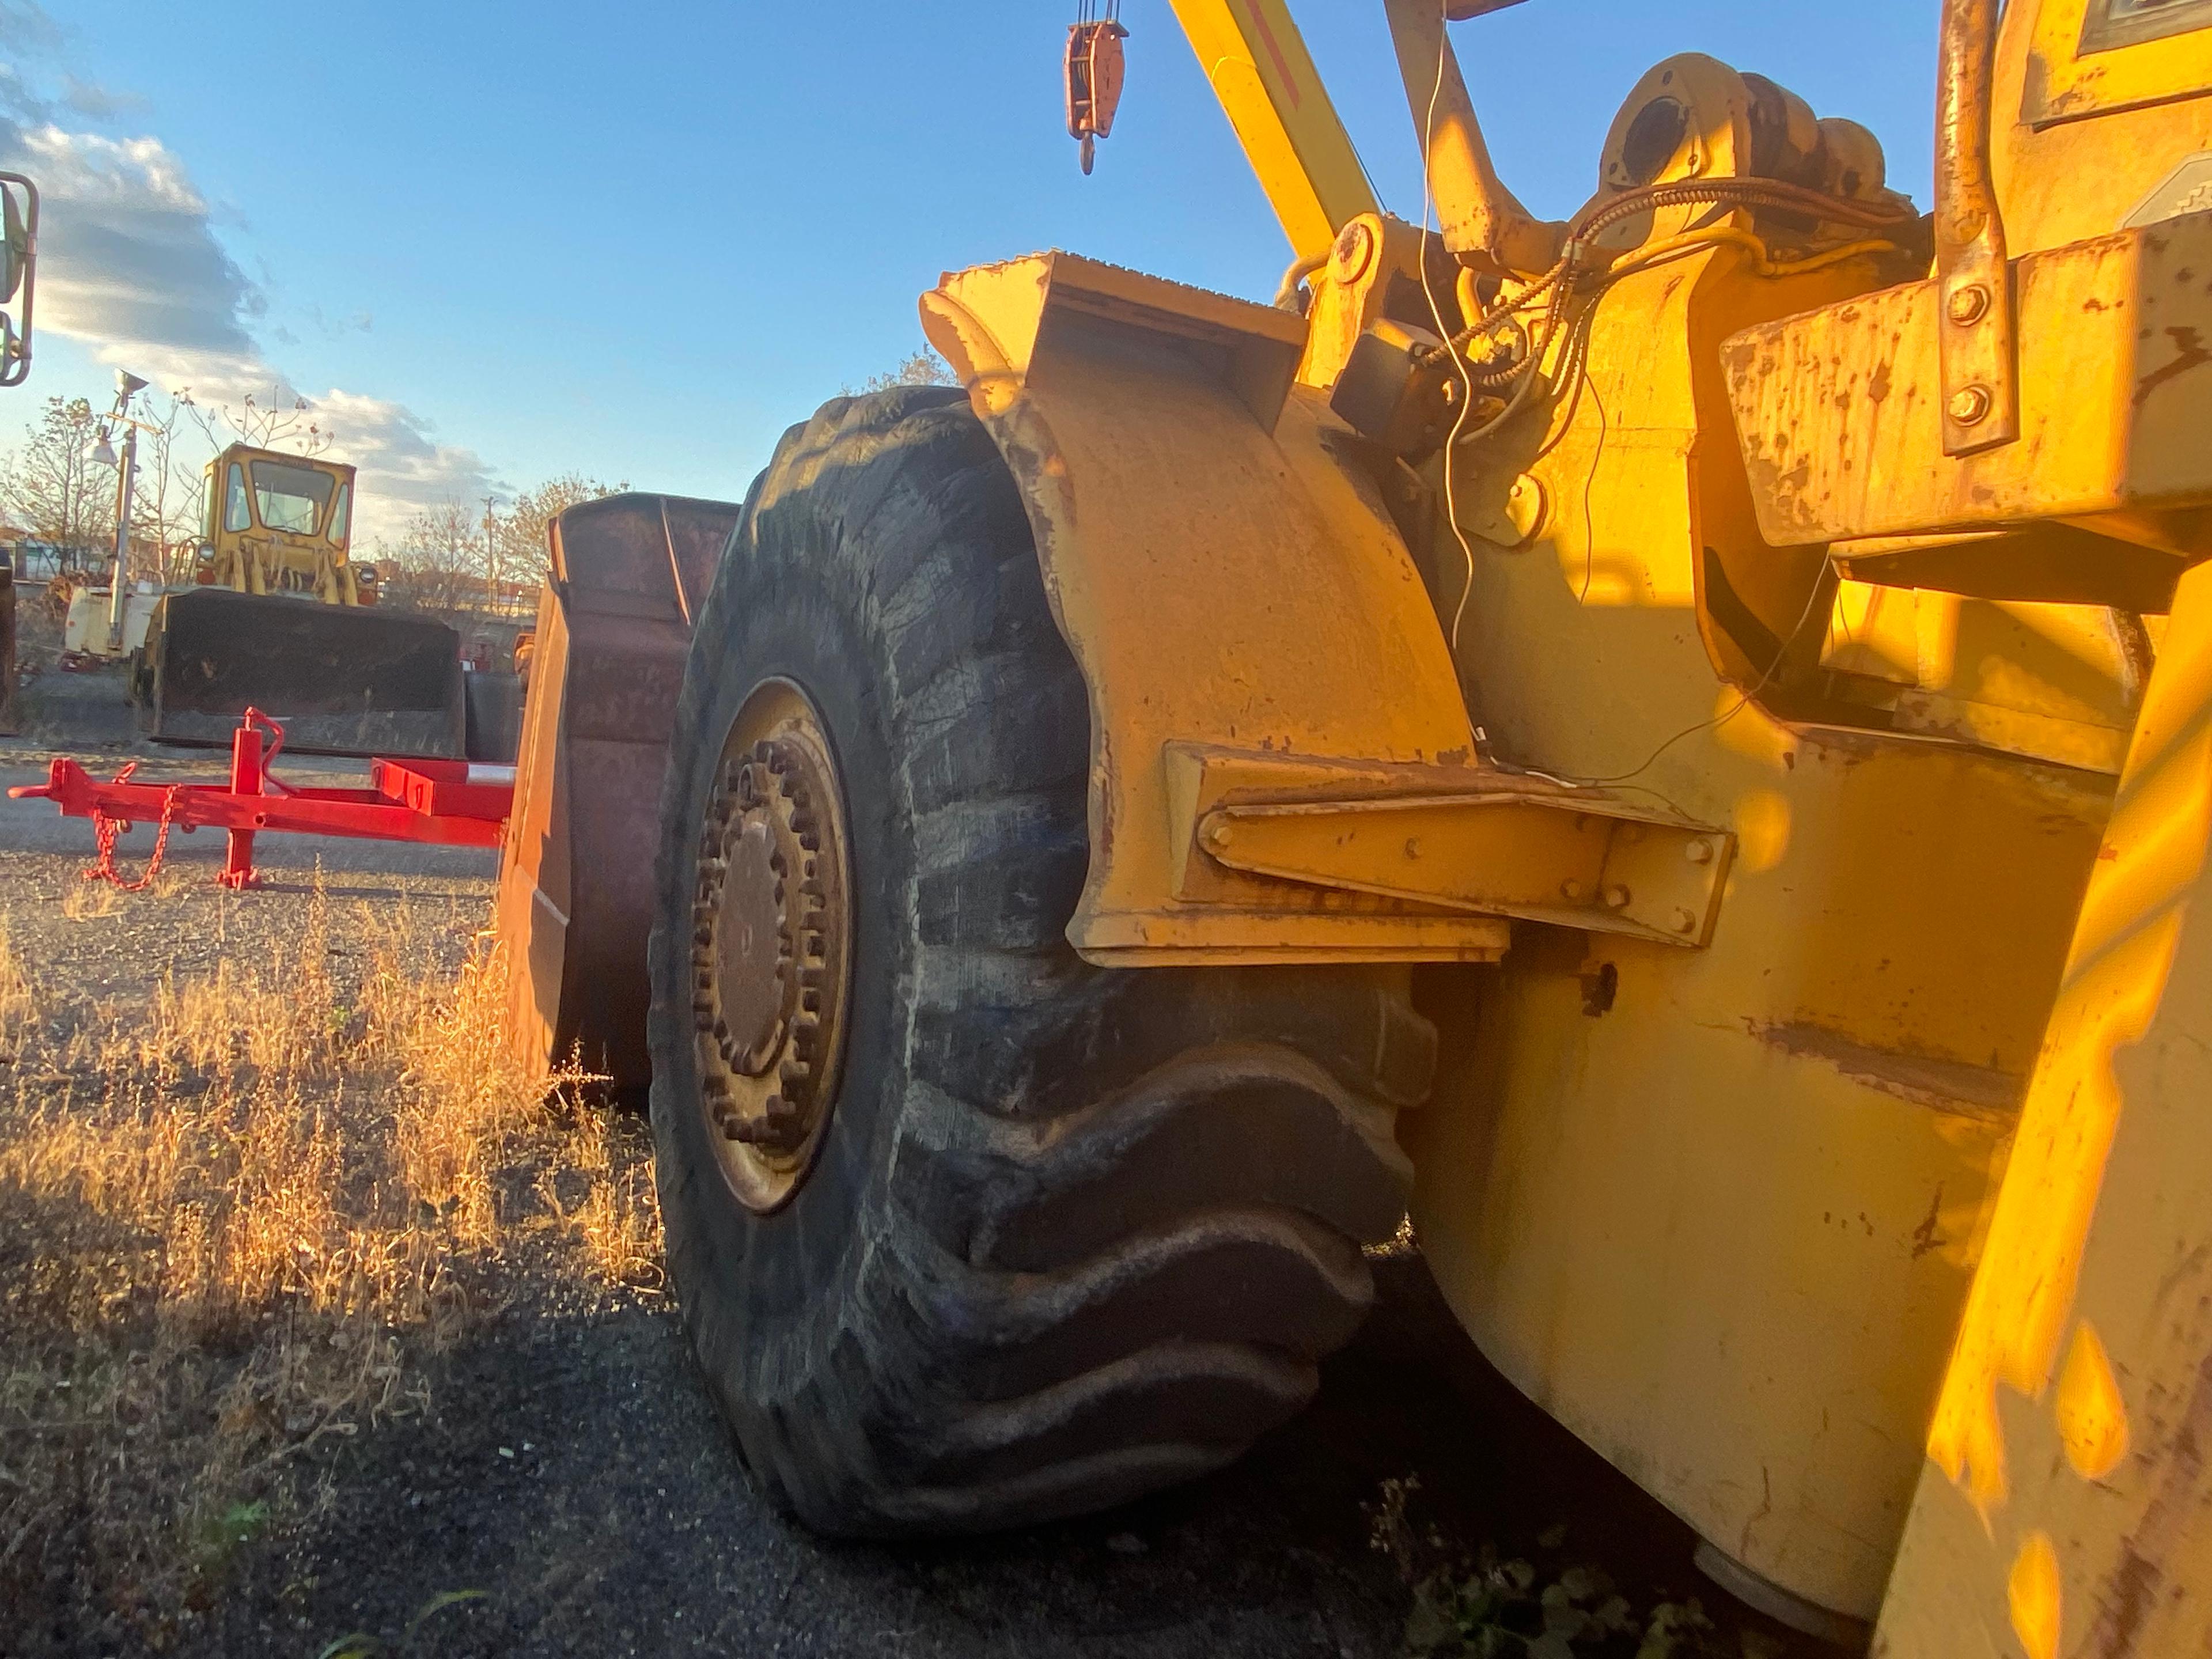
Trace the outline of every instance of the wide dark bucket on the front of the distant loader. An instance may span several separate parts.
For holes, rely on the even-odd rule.
[[[133,677],[161,743],[228,743],[252,706],[310,754],[458,761],[462,697],[460,635],[442,622],[230,588],[164,595]]]

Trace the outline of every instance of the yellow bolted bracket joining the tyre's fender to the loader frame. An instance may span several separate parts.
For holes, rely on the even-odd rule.
[[[1179,898],[1208,865],[1400,902],[1701,947],[1725,830],[1482,765],[1358,765],[1177,743]],[[1201,858],[1203,856],[1203,858]]]

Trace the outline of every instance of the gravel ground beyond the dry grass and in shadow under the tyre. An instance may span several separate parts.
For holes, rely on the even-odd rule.
[[[0,743],[0,785],[42,776],[42,761],[31,743]],[[142,757],[159,776],[219,765]],[[122,854],[148,841],[139,830]],[[181,883],[166,896],[71,922],[60,900],[88,854],[86,823],[0,801],[0,905],[18,951],[111,1000],[144,995],[164,969],[265,947],[316,860],[334,898],[425,918],[482,911],[493,876],[489,854],[265,836],[268,885],[226,896],[212,885],[221,838],[199,834],[173,843]],[[356,907],[332,909],[343,922]],[[1772,1635],[1739,1644],[1739,1628],[1772,1628],[1692,1573],[1679,1522],[1484,1365],[1418,1254],[1376,1265],[1380,1305],[1323,1367],[1321,1400],[1241,1464],[1093,1520],[896,1548],[830,1544],[763,1509],[666,1298],[524,1283],[434,1360],[429,1416],[323,1460],[325,1513],[237,1551],[221,1595],[184,1610],[177,1650],[319,1655],[363,1630],[389,1646],[356,1652],[396,1655],[1391,1655],[1411,1593],[1371,1548],[1365,1506],[1405,1475],[1447,1548],[1599,1564],[1639,1608],[1701,1597],[1728,1635],[1717,1650],[1794,1650]],[[431,1597],[462,1590],[480,1595],[407,1635]],[[0,1655],[15,1652],[117,1648],[0,1628]]]

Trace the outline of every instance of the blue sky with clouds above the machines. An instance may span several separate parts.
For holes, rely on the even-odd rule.
[[[1294,11],[1416,217],[1380,0]],[[1500,170],[1546,215],[1588,195],[1621,95],[1674,51],[1865,122],[1927,206],[1936,11],[1531,0],[1453,40]],[[1084,179],[1060,111],[1073,0],[0,0],[0,153],[60,186],[33,387],[93,394],[111,363],[281,376],[374,471],[369,535],[571,469],[739,495],[787,422],[918,349],[940,270],[1060,246],[1274,290],[1287,246],[1166,0],[1121,15],[1128,91]],[[104,237],[69,246],[73,212]],[[137,228],[133,281],[175,303],[104,279]]]

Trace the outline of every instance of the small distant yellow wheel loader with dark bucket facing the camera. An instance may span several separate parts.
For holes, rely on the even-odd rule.
[[[190,586],[155,602],[131,699],[168,743],[228,743],[248,708],[292,750],[460,759],[460,635],[376,606],[352,557],[354,469],[230,445],[206,471]]]

